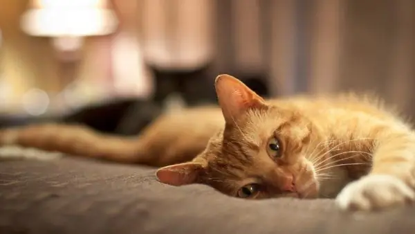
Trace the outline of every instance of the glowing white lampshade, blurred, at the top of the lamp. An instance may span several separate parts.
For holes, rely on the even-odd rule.
[[[31,0],[21,17],[21,29],[33,36],[108,35],[117,26],[116,14],[105,0]]]

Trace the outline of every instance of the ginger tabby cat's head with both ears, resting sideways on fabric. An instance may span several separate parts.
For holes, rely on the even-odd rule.
[[[216,95],[225,118],[192,162],[160,168],[162,183],[203,183],[243,198],[316,197],[319,183],[311,155],[318,129],[296,107],[267,103],[241,81],[219,75]],[[316,141],[317,140],[317,141]]]

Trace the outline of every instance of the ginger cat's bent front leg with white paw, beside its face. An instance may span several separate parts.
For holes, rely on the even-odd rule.
[[[374,150],[371,172],[343,188],[336,203],[344,210],[379,210],[415,200],[415,137],[387,132]]]

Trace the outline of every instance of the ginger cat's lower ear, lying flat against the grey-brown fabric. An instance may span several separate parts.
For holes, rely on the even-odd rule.
[[[201,163],[179,163],[158,169],[156,177],[161,183],[170,186],[184,186],[196,183],[202,170],[203,165]]]

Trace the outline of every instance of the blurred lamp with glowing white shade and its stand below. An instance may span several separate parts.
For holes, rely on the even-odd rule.
[[[61,93],[66,93],[71,89],[71,84],[77,81],[75,71],[82,56],[80,48],[84,37],[114,33],[118,19],[109,0],[30,0],[21,16],[20,26],[28,35],[51,38],[59,61],[59,82],[63,87]],[[33,93],[26,98],[26,106],[40,92],[37,90]],[[78,96],[76,91],[70,93]],[[56,109],[62,111],[66,100],[59,98],[59,95],[54,100],[57,102]]]

